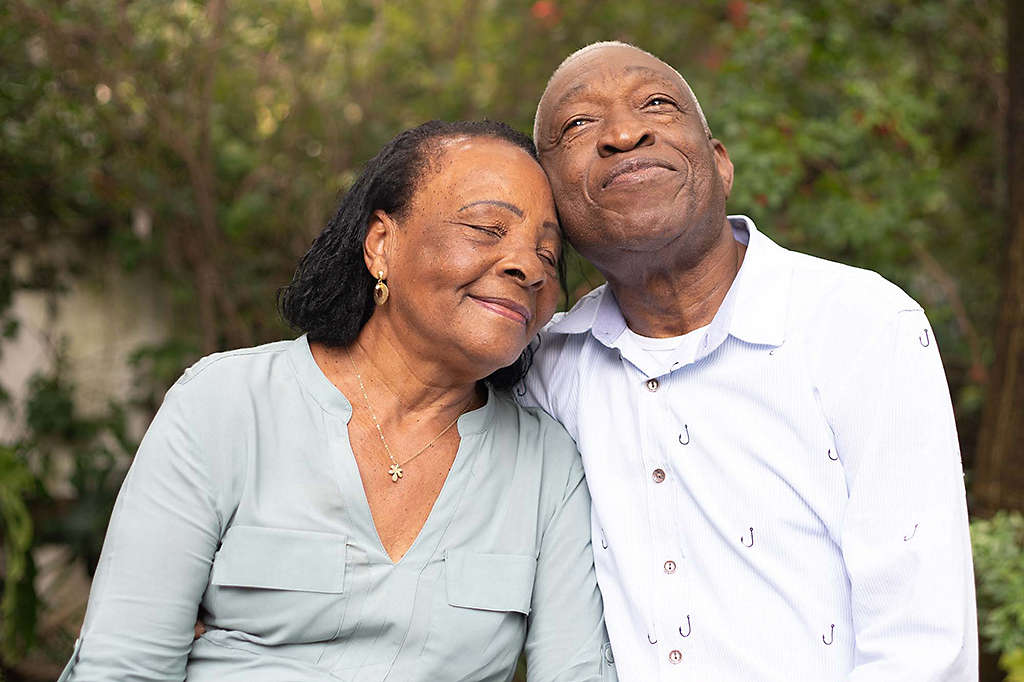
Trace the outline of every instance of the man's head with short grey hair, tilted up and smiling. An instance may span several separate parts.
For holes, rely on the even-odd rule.
[[[577,57],[545,92],[537,137],[562,227],[598,267],[721,229],[732,164],[658,59],[627,46]]]

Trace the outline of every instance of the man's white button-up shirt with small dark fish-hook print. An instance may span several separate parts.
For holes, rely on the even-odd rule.
[[[599,287],[521,398],[583,453],[626,682],[977,680],[963,467],[935,337],[873,272],[775,245],[665,372]]]

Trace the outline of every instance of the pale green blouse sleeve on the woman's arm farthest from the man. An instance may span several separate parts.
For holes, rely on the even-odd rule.
[[[60,682],[182,680],[220,538],[189,387],[168,391],[111,517],[75,654]]]

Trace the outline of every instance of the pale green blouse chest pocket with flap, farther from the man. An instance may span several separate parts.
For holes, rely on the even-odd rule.
[[[203,606],[214,627],[267,644],[330,639],[344,615],[345,563],[344,536],[231,526]]]

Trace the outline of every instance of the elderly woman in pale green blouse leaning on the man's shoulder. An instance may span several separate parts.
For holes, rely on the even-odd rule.
[[[610,679],[579,456],[508,395],[560,243],[527,137],[389,142],[282,292],[305,334],[168,391],[61,680]]]

